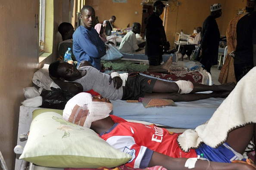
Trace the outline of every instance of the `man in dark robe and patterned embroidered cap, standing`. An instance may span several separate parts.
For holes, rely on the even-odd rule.
[[[218,64],[220,33],[216,18],[222,15],[222,5],[215,3],[210,6],[211,14],[203,22],[201,32],[200,63],[207,72],[211,73],[212,65]]]

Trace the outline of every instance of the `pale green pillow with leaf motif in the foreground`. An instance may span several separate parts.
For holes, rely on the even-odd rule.
[[[65,121],[61,113],[40,112],[31,123],[20,159],[59,168],[116,167],[131,159],[130,155],[112,148],[93,130]]]

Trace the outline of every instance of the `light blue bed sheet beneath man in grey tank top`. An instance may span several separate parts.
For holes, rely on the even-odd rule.
[[[209,98],[193,102],[175,102],[176,106],[144,108],[142,103],[112,100],[112,114],[124,119],[146,121],[168,127],[194,129],[209,120],[222,98]]]

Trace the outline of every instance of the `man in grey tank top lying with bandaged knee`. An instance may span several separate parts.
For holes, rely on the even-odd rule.
[[[184,80],[168,82],[145,77],[137,72],[130,74],[112,72],[109,75],[90,66],[87,61],[81,62],[78,69],[67,62],[55,61],[49,65],[49,74],[62,90],[67,90],[69,93],[78,94],[93,89],[112,100],[138,100],[139,97],[145,97],[181,102],[210,97],[225,98],[235,87],[234,83],[208,86]],[[197,93],[202,91],[213,92]]]

